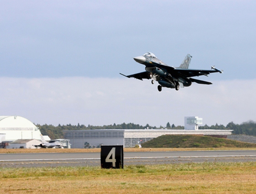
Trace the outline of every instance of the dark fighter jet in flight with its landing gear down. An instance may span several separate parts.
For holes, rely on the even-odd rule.
[[[208,76],[210,73],[219,72],[222,73],[222,70],[211,66],[211,70],[203,69],[188,69],[192,56],[187,54],[184,61],[181,63],[180,67],[170,67],[165,64],[163,61],[158,59],[152,52],[147,52],[142,56],[134,57],[134,60],[140,64],[145,65],[144,72],[132,75],[124,75],[128,78],[136,79],[152,79],[151,83],[154,84],[154,81],[158,82],[158,91],[162,91],[162,87],[166,88],[175,88],[179,90],[180,87],[191,86],[192,82],[197,84],[212,84],[211,82],[194,79],[194,76],[205,75]]]

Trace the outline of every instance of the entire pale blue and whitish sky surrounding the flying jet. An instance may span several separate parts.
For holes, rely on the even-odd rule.
[[[0,115],[35,124],[203,125],[242,123],[256,113],[255,1],[0,0]],[[163,88],[125,78],[153,52],[178,67],[224,73],[213,85]]]

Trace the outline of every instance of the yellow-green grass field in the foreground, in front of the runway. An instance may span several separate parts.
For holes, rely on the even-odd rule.
[[[256,163],[0,169],[1,193],[256,193]]]

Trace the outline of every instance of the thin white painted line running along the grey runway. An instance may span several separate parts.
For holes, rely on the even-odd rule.
[[[256,157],[256,155],[229,155],[229,156],[160,156],[160,157],[127,157],[124,159],[163,159],[163,158],[220,158],[220,157]],[[20,159],[20,160],[0,160],[7,161],[49,161],[49,160],[100,160],[100,158],[70,158],[70,159]]]

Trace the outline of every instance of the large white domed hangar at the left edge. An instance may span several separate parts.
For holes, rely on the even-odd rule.
[[[0,134],[5,134],[5,141],[40,140],[41,132],[34,123],[21,116],[0,116]]]

